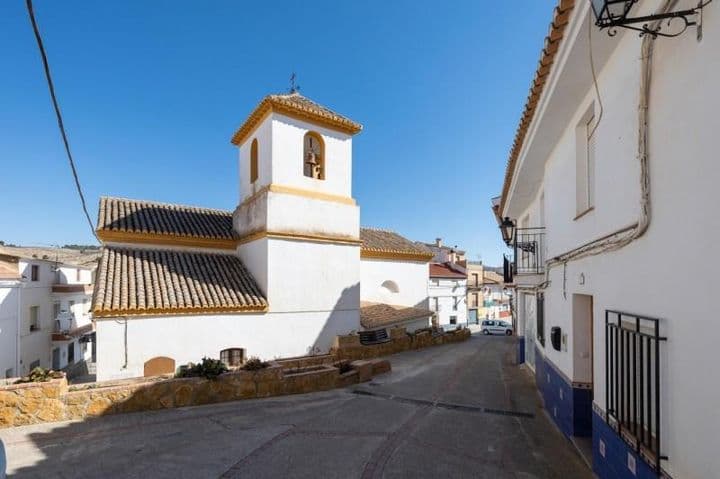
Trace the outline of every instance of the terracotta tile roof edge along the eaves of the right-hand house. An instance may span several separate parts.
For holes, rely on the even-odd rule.
[[[535,117],[535,110],[537,109],[538,102],[540,101],[540,96],[545,89],[545,83],[550,76],[550,69],[555,62],[555,56],[560,49],[560,43],[562,42],[566,27],[570,23],[570,15],[572,14],[574,7],[575,0],[558,0],[558,4],[553,11],[552,22],[550,22],[550,32],[547,37],[545,37],[545,44],[543,45],[540,61],[538,62],[537,70],[535,71],[535,78],[533,79],[530,87],[530,93],[528,94],[528,98],[525,103],[525,109],[523,110],[517,132],[515,133],[515,141],[510,149],[510,157],[508,158],[507,167],[505,169],[505,180],[503,182],[503,189],[500,197],[500,206],[498,207],[498,212],[496,213],[498,218],[505,210],[505,202],[507,201],[507,195],[510,190],[510,183],[512,183],[515,165],[517,163],[518,156],[520,155],[520,150],[525,142],[525,135],[527,135],[528,128]],[[493,206],[493,210],[494,209],[495,207]]]

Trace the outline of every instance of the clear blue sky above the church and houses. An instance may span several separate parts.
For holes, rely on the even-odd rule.
[[[233,209],[230,136],[301,93],[362,123],[365,226],[500,264],[490,213],[554,0],[35,0],[80,179],[100,195]],[[0,239],[91,243],[23,0],[0,2]]]

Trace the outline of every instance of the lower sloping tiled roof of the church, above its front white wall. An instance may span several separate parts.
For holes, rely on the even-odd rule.
[[[105,247],[93,315],[265,311],[267,301],[230,254]]]

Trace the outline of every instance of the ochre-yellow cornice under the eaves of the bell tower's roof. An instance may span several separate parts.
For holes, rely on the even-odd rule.
[[[233,145],[240,146],[270,113],[280,113],[281,115],[289,116],[296,120],[308,121],[315,125],[324,126],[325,128],[348,135],[354,135],[362,130],[362,125],[350,120],[341,119],[329,114],[322,114],[311,109],[305,109],[292,103],[283,102],[278,98],[265,97],[250,114],[248,119],[245,120],[245,123],[237,129],[230,142]]]

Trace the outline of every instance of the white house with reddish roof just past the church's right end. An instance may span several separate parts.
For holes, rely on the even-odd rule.
[[[467,324],[467,276],[452,263],[431,263],[429,275],[430,310],[442,328]]]

